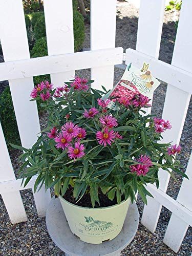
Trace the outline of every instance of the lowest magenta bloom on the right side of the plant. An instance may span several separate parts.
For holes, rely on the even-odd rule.
[[[137,162],[142,164],[131,165],[130,170],[132,173],[137,173],[137,176],[146,175],[148,173],[148,168],[153,166],[150,157],[146,155],[141,155],[138,159],[135,159]]]

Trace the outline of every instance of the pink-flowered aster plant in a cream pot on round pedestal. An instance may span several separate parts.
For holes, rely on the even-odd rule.
[[[82,241],[102,243],[121,231],[137,191],[145,204],[152,197],[145,185],[158,187],[159,168],[187,176],[176,160],[180,146],[160,143],[170,122],[141,115],[150,108],[147,97],[118,89],[109,99],[91,82],[75,77],[55,90],[48,81],[38,84],[31,97],[47,108],[48,127],[32,148],[12,146],[24,151],[24,186],[34,175],[34,191],[54,186],[71,231]]]

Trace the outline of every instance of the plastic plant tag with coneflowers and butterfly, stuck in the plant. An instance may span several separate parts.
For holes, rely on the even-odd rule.
[[[159,86],[160,82],[152,76],[152,72],[148,68],[149,64],[146,63],[143,63],[140,69],[132,66],[130,63],[126,67],[120,81],[103,97],[111,99],[108,108],[118,110],[116,101],[126,104],[126,101],[131,101],[138,94],[152,98],[153,92]]]

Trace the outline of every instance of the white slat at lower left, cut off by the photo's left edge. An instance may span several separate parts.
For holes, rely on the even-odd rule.
[[[9,152],[7,150],[7,145],[5,142],[2,125],[0,123],[0,181],[1,183],[6,183],[7,180],[14,180],[15,175],[13,172],[13,167],[11,164],[11,160],[9,157]],[[8,191],[4,190],[2,193],[2,198],[5,204],[5,207],[8,211],[9,218],[11,223],[18,223],[27,221],[27,216],[25,212],[25,208],[23,205],[22,198],[20,196],[19,191]]]

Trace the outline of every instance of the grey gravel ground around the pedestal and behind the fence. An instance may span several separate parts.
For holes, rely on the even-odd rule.
[[[178,12],[179,13],[179,12]],[[176,30],[171,20],[177,18],[178,13],[166,13],[164,17],[163,33],[161,39],[160,59],[170,63],[173,54],[174,40]],[[117,36],[116,47],[123,47],[135,49],[136,34],[138,23],[138,9],[134,6],[118,6],[117,16]],[[86,25],[86,41],[84,48],[90,47],[90,26]],[[90,77],[90,70],[83,70],[76,72],[84,77]],[[114,84],[118,82],[123,74],[122,69],[115,68]],[[2,84],[0,84],[0,88]],[[161,117],[163,110],[163,103],[166,93],[166,83],[162,82],[158,89],[155,91],[152,113]],[[187,112],[185,125],[181,137],[180,144],[182,145],[182,154],[180,154],[180,161],[186,168],[190,151],[192,148],[190,140],[190,121],[191,121],[191,102]],[[39,115],[41,129],[46,127],[47,117]],[[17,173],[18,164],[17,158],[19,152],[11,152],[11,161]],[[176,183],[170,179],[167,194],[176,199],[182,179]],[[31,189],[21,191],[22,199],[28,216],[28,221],[25,223],[18,223],[12,225],[9,216],[5,209],[3,200],[1,198],[1,248],[0,255],[65,255],[49,237],[45,218],[39,219],[35,209],[35,203]],[[142,216],[143,203],[138,197],[138,209],[140,217]],[[127,246],[122,255],[190,255],[191,253],[191,237],[192,229],[188,228],[185,239],[181,245],[179,252],[174,253],[169,247],[163,243],[164,233],[170,218],[170,211],[165,207],[162,208],[160,219],[155,233],[151,233],[144,226],[139,224],[137,234],[132,243]],[[90,255],[91,256],[91,255]]]

